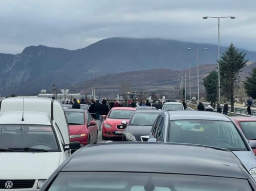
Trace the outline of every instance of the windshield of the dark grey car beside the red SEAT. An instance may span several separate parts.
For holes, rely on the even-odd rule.
[[[134,114],[131,119],[131,125],[138,125],[138,126],[152,126],[155,122],[158,113],[137,113]]]

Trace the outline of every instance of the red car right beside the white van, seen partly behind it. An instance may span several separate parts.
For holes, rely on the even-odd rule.
[[[81,147],[98,142],[98,126],[86,110],[65,110],[70,132],[70,142],[80,142]]]

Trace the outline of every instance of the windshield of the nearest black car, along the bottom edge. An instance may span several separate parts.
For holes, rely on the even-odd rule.
[[[183,174],[60,172],[48,191],[250,191],[246,179]]]

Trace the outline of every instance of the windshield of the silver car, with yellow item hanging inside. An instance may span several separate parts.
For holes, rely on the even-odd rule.
[[[176,120],[170,122],[169,142],[201,144],[247,151],[242,137],[232,122],[212,120]]]

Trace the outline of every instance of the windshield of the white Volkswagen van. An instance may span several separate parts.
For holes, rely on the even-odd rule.
[[[0,125],[0,148],[14,152],[58,151],[51,126]]]

